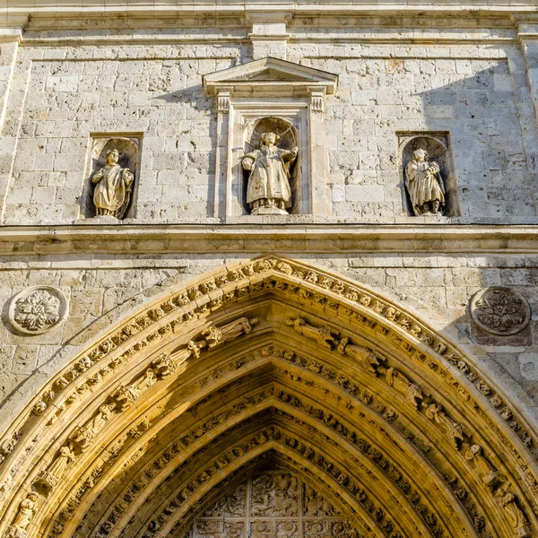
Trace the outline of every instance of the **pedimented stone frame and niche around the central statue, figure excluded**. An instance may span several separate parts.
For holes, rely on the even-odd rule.
[[[337,79],[272,57],[204,75],[205,91],[216,97],[214,216],[233,221],[252,214],[243,157],[260,149],[264,133],[280,136],[275,144],[279,150],[297,148],[296,158],[289,161],[291,206],[273,213],[282,218],[331,213],[324,108]]]

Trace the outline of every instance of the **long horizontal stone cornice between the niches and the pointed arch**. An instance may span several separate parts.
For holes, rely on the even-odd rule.
[[[538,254],[538,225],[4,226],[0,256],[215,253]]]

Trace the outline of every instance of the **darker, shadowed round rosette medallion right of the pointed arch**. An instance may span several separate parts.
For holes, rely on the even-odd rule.
[[[509,288],[484,288],[471,299],[471,316],[484,331],[509,336],[525,329],[531,309],[525,297]]]

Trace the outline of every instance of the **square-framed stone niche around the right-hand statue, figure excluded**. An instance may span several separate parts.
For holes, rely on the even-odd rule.
[[[417,216],[413,211],[410,191],[407,187],[406,169],[413,160],[417,150],[427,153],[427,161],[438,164],[439,176],[444,190],[444,204],[439,207],[438,213],[423,213],[423,217],[456,217],[460,215],[459,196],[456,187],[456,173],[454,160],[450,150],[450,136],[446,132],[413,132],[396,133],[398,137],[398,158],[402,185],[402,204],[404,214]]]

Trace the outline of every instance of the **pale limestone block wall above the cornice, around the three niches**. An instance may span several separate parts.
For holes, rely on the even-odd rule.
[[[125,32],[103,30],[93,45],[91,30],[33,24],[17,53],[6,106],[4,224],[88,221],[81,205],[92,134],[142,136],[127,221],[215,222],[216,100],[204,92],[202,76],[252,59],[245,30],[130,30],[122,40]],[[452,147],[456,198],[441,221],[535,222],[531,49],[521,48],[507,21],[505,28],[493,20],[491,28],[454,22],[423,30],[431,45],[399,44],[420,33],[416,21],[406,24],[376,30],[357,22],[343,32],[303,19],[289,25],[286,58],[339,77],[324,114],[329,214],[294,220],[419,222],[406,207],[397,134],[443,133]],[[459,40],[446,45],[440,37]],[[202,38],[204,44],[183,43]],[[107,39],[117,41],[113,48]],[[357,39],[367,44],[357,46]],[[2,47],[8,54],[9,45]]]

